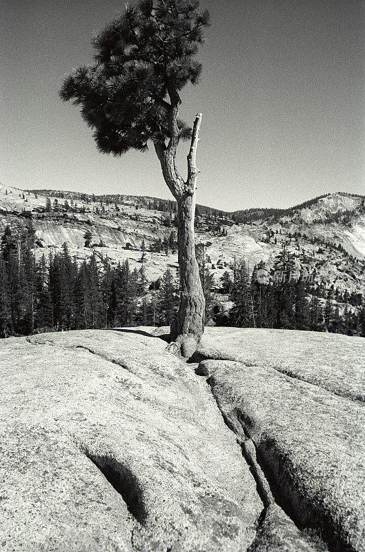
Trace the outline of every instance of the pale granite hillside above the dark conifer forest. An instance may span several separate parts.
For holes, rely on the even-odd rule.
[[[31,216],[37,236],[37,255],[59,250],[66,242],[79,259],[96,250],[99,255],[115,262],[128,258],[134,267],[138,264],[143,239],[148,248],[156,239],[164,239],[176,232],[173,221],[166,222],[169,213],[146,208],[150,205],[148,198],[118,199],[123,204],[108,199],[106,204],[103,197],[70,192],[53,194],[49,197],[41,190],[33,193],[0,188],[0,227],[4,228],[6,224],[19,226],[24,224],[27,216]],[[55,199],[58,202],[57,207],[52,206],[51,212],[46,212],[48,198],[52,203]],[[65,202],[70,208],[67,213]],[[216,279],[221,276],[221,270],[229,270],[234,259],[241,257],[251,268],[260,260],[270,266],[282,242],[286,241],[296,252],[300,264],[308,268],[323,268],[328,282],[336,280],[339,286],[346,282],[348,288],[362,288],[365,282],[362,275],[365,266],[365,213],[361,212],[364,199],[338,193],[309,203],[309,207],[275,210],[275,215],[265,215],[260,211],[257,218],[250,215],[251,224],[235,224],[235,213],[221,213],[221,217],[217,212],[212,216],[198,215],[197,242],[206,244],[210,268]],[[168,206],[171,202],[166,201],[166,204]],[[204,209],[208,211],[208,208]],[[335,215],[339,215],[339,221],[333,221]],[[342,215],[347,217],[346,224],[343,224]],[[219,235],[219,229],[224,229],[226,235]],[[92,233],[91,249],[84,247],[86,230]],[[318,243],[313,243],[317,238],[327,244],[319,247]],[[344,251],[337,250],[339,245]],[[177,256],[172,254],[172,250],[168,255],[164,252],[156,255],[148,253],[146,266],[151,279],[163,273],[167,266],[177,266]]]

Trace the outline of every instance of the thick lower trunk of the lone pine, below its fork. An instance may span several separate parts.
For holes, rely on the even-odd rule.
[[[180,273],[180,304],[171,324],[172,348],[183,357],[193,355],[204,331],[205,299],[195,257],[195,193],[177,201],[177,243]]]

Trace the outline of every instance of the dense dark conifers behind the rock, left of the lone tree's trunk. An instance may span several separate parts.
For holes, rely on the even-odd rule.
[[[115,326],[168,325],[178,290],[170,270],[148,284],[128,260],[111,266],[93,254],[81,264],[66,244],[48,261],[32,253],[32,226],[13,235],[6,227],[0,251],[0,336]]]

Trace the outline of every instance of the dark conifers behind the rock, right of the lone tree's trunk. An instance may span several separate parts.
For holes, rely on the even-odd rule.
[[[270,273],[264,262],[249,277],[244,261],[221,278],[221,293],[228,294],[233,307],[217,313],[218,326],[282,328],[328,331],[365,337],[364,297],[329,288],[320,275],[300,272],[293,255],[282,252]],[[351,308],[351,306],[355,308]]]

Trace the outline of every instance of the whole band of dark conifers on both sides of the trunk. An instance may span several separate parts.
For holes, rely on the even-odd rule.
[[[86,246],[90,236],[86,232]],[[77,262],[63,244],[61,253],[36,259],[34,230],[1,236],[0,335],[121,326],[168,326],[177,312],[176,275],[166,270],[148,282],[144,268],[130,269],[128,259],[111,264],[92,253]],[[155,244],[150,246],[155,247]],[[295,272],[293,257],[282,248],[268,272],[264,262],[249,270],[239,259],[219,282],[197,248],[206,298],[206,324],[253,328],[328,331],[365,337],[364,297],[326,286],[319,278]],[[263,276],[264,275],[264,276]],[[230,308],[222,308],[228,304]]]

